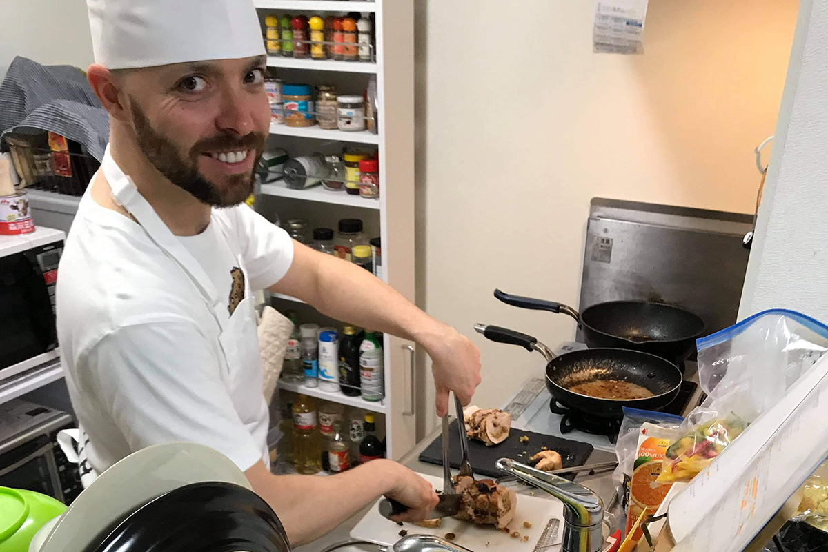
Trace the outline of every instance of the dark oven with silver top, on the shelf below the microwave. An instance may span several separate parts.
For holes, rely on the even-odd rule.
[[[72,416],[21,399],[0,404],[0,487],[41,492],[70,504],[83,486],[79,468],[56,435],[75,427]]]

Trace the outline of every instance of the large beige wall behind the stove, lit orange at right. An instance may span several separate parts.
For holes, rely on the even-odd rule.
[[[795,0],[650,0],[641,56],[592,53],[594,2],[416,1],[418,293],[431,314],[555,345],[571,319],[492,290],[576,305],[592,197],[753,211],[753,147],[773,134]],[[542,375],[539,354],[472,338],[479,406]],[[431,380],[421,389],[434,425]]]

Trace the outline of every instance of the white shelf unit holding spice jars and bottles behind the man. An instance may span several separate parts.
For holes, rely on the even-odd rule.
[[[351,2],[344,0],[255,0],[260,17],[268,10],[283,13],[302,12],[306,16],[345,12],[370,12],[374,14],[376,63],[334,60],[296,60],[271,56],[268,65],[276,76],[280,70],[292,82],[308,75],[312,82],[324,80],[364,82],[365,74],[376,74],[378,88],[378,133],[340,132],[320,127],[287,127],[272,125],[271,140],[274,146],[283,147],[291,154],[291,146],[306,151],[307,142],[320,141],[343,145],[370,144],[377,146],[379,154],[380,198],[363,199],[347,194],[328,192],[318,187],[311,190],[289,190],[285,185],[262,185],[261,194],[301,201],[305,212],[319,209],[320,214],[330,209],[341,209],[342,217],[354,216],[354,208],[364,208],[361,218],[373,221],[378,218],[379,235],[383,243],[383,269],[385,279],[409,300],[415,299],[414,285],[414,2],[413,0],[378,0],[377,2]],[[386,40],[388,39],[388,40]],[[324,81],[323,80],[323,81]],[[298,81],[298,82],[301,82]],[[301,140],[296,140],[301,139]],[[305,203],[307,202],[307,203]],[[289,204],[289,203],[287,203]],[[332,208],[330,205],[333,204]],[[370,211],[368,211],[370,209]],[[267,213],[265,213],[267,216]],[[289,218],[289,213],[280,213]],[[376,234],[374,234],[376,235]],[[286,295],[273,294],[278,299],[295,300]],[[309,308],[309,307],[308,307]],[[359,397],[330,394],[304,386],[291,386],[280,382],[282,389],[305,392],[309,396],[358,406],[385,414],[385,434],[388,457],[400,458],[416,444],[416,396],[414,374],[414,343],[391,335],[385,335],[385,392],[382,403],[368,403]],[[291,387],[294,387],[291,389]],[[359,404],[354,404],[359,401]]]

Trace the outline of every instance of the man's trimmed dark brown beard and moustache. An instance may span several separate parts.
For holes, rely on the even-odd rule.
[[[221,187],[210,182],[198,170],[199,157],[207,151],[255,151],[253,167],[258,165],[264,150],[265,137],[259,132],[251,132],[239,137],[232,134],[219,134],[205,138],[190,149],[190,158],[179,155],[178,148],[169,138],[156,132],[150,124],[147,114],[132,99],[130,102],[132,119],[138,146],[152,166],[166,176],[174,185],[192,194],[195,199],[213,207],[232,207],[248,199],[253,193],[252,170],[249,175],[229,175],[229,185]]]

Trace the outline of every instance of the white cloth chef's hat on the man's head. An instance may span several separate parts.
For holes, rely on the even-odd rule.
[[[86,0],[95,63],[108,69],[265,53],[253,0]]]

